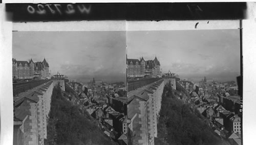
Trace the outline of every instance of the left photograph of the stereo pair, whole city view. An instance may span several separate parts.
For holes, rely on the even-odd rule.
[[[13,31],[13,144],[127,143],[125,31]]]

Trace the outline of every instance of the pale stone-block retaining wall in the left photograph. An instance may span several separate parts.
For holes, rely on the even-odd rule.
[[[17,123],[14,124],[14,144],[44,144],[52,91],[53,81],[50,81],[14,99],[14,122]]]

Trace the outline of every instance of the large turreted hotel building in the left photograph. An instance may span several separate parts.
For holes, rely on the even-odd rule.
[[[44,59],[42,62],[17,61],[12,58],[12,78],[13,79],[50,79],[49,64]]]

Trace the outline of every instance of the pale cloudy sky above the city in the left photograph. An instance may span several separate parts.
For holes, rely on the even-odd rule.
[[[70,79],[125,81],[126,32],[13,32],[13,57],[46,58],[51,74]]]

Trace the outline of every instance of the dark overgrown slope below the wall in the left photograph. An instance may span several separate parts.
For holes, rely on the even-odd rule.
[[[117,144],[105,135],[98,122],[81,112],[63,97],[59,87],[53,89],[45,144]]]

